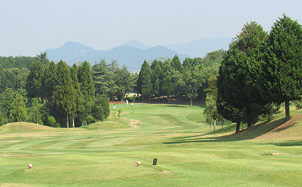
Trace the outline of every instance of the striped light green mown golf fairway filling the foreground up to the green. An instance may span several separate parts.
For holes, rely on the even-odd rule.
[[[124,120],[113,122],[111,116],[107,122],[85,128],[53,129],[31,123],[1,126],[0,185],[302,184],[301,118],[282,128],[277,124],[284,118],[280,115],[266,125],[279,127],[269,135],[259,133],[261,125],[253,132],[231,135],[234,125],[210,132],[200,106],[118,104],[115,111],[119,109]],[[156,166],[153,158],[158,159]],[[141,166],[136,166],[137,161]]]

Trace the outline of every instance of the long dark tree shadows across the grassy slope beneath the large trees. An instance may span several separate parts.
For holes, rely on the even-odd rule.
[[[290,125],[286,125],[286,123]],[[295,123],[291,123],[291,120],[285,122],[285,118],[281,118],[279,120],[274,120],[271,122],[266,121],[266,122],[259,123],[250,128],[240,130],[239,132],[234,133],[232,135],[222,135],[220,137],[208,137],[209,135],[230,133],[232,131],[234,132],[236,125],[232,124],[232,125],[228,125],[225,128],[221,128],[220,130],[215,130],[214,132],[209,132],[203,135],[174,137],[171,139],[172,140],[171,142],[163,142],[163,144],[168,145],[168,144],[183,144],[183,143],[192,143],[192,142],[232,142],[232,141],[240,141],[240,140],[252,140],[256,137],[266,134],[267,132],[277,133],[282,130],[286,130],[287,128],[291,128],[293,125],[295,125]]]

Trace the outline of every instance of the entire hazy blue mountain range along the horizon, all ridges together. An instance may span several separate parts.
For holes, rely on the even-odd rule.
[[[107,50],[95,50],[79,42],[66,42],[62,47],[45,50],[49,60],[58,62],[64,60],[68,65],[77,63],[77,60],[90,62],[92,65],[105,59],[106,62],[117,60],[119,65],[126,65],[132,72],[139,72],[144,60],[154,60],[158,57],[173,58],[178,55],[181,62],[185,57],[204,57],[207,52],[214,50],[228,50],[232,38],[202,38],[187,43],[171,44],[151,47],[143,43],[130,40],[119,47],[109,47]]]

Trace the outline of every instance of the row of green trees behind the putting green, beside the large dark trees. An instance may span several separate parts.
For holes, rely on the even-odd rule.
[[[170,102],[171,96],[178,101],[185,96],[190,99],[190,106],[198,97],[205,101],[208,79],[217,74],[225,55],[225,50],[215,50],[203,58],[185,58],[183,63],[177,55],[173,59],[145,60],[136,82],[141,101],[151,102],[157,98],[160,103],[161,98],[165,98]]]

